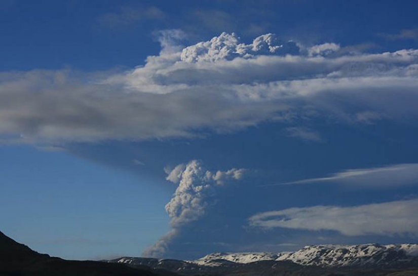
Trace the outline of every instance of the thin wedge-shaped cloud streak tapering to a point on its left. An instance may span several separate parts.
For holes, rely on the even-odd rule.
[[[396,164],[385,167],[345,170],[328,177],[309,178],[274,185],[337,182],[369,187],[418,184],[418,164]]]

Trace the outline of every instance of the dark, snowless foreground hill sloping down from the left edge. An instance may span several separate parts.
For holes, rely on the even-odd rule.
[[[40,254],[0,232],[0,276],[159,276],[176,275],[145,266],[68,261]]]

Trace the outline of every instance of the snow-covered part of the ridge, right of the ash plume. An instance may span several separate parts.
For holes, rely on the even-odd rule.
[[[195,261],[198,265],[215,266],[219,260],[249,263],[262,260],[292,261],[301,265],[396,267],[418,264],[418,245],[317,245],[295,252],[282,253],[213,253]]]

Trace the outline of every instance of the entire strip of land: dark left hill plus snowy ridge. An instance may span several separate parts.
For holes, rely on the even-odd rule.
[[[307,246],[282,253],[213,253],[197,260],[70,261],[0,232],[0,276],[418,276],[418,245]]]

